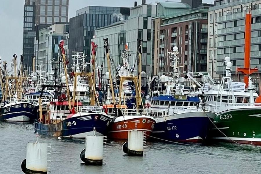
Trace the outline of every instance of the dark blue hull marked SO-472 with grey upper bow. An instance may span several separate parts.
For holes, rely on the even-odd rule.
[[[153,136],[177,142],[202,142],[209,135],[216,114],[189,112],[156,118]]]

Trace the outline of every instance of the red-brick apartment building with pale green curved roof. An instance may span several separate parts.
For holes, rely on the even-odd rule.
[[[174,46],[179,49],[179,66],[184,66],[181,72],[206,71],[207,18],[210,6],[192,0],[157,2],[158,16],[152,21],[153,75],[171,71],[168,52]]]

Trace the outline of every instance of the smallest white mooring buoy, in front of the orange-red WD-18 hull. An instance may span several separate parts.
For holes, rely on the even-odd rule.
[[[129,156],[143,156],[144,143],[146,143],[144,131],[128,131],[128,142],[123,144],[122,150]]]

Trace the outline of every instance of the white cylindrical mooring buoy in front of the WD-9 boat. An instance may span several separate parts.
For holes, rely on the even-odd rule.
[[[106,148],[105,136],[87,135],[85,139],[85,149],[80,153],[80,158],[85,164],[102,165]],[[106,138],[106,137],[105,137]],[[105,140],[105,142],[104,142]]]

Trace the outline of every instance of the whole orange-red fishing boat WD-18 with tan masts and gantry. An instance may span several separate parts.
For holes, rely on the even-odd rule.
[[[142,41],[138,40],[138,72],[141,72],[141,63],[142,63],[142,52],[141,52]],[[108,39],[104,39],[104,47],[106,51],[107,63],[108,63],[108,71],[109,71],[109,82],[110,82],[110,91],[114,91],[113,89],[117,86],[112,81],[112,74],[110,70],[110,62],[111,57],[109,55],[109,44]],[[126,48],[128,49],[128,47]],[[117,91],[119,92],[118,104],[116,104],[115,93],[112,92],[112,100],[114,106],[115,117],[112,119],[112,123],[110,126],[109,136],[113,139],[128,139],[128,131],[138,130],[138,131],[146,131],[147,135],[151,135],[152,130],[154,128],[155,119],[150,116],[150,110],[145,109],[142,103],[142,97],[140,93],[141,86],[141,74],[138,73],[138,76],[135,76],[132,71],[125,66],[125,73],[118,73],[119,77],[119,88]],[[123,69],[121,69],[123,71]],[[121,107],[121,105],[126,106],[126,99],[124,95],[124,81],[132,81],[135,85],[135,96],[129,96],[135,98],[136,105],[133,109],[127,109],[125,107]],[[122,104],[123,103],[123,104]],[[117,105],[119,106],[117,108]],[[141,108],[140,108],[141,107]]]

